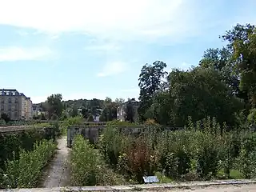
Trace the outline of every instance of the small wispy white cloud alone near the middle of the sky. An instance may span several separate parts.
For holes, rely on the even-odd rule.
[[[98,77],[106,77],[114,74],[120,74],[128,69],[125,62],[108,62],[104,66],[102,72],[98,73]]]

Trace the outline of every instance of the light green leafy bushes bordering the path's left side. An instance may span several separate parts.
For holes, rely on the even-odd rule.
[[[30,188],[37,185],[42,168],[54,155],[53,141],[34,143],[34,149],[21,150],[18,160],[7,160],[2,171],[2,188]],[[15,154],[14,154],[15,155]]]

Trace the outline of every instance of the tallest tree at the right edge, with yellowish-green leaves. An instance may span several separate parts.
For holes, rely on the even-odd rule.
[[[246,24],[234,26],[226,31],[222,39],[229,42],[228,48],[233,54],[233,60],[239,72],[239,88],[244,91],[252,107],[256,105],[256,29]]]

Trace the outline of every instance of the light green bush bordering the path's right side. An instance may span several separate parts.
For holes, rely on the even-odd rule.
[[[124,179],[110,170],[89,141],[77,135],[70,153],[73,186],[117,185]]]

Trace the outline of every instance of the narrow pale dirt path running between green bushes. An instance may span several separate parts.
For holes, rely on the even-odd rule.
[[[70,184],[70,164],[69,148],[66,146],[66,136],[58,139],[58,150],[53,162],[50,163],[46,178],[42,187],[50,188],[57,186],[69,186]]]

